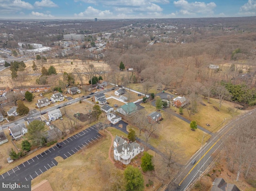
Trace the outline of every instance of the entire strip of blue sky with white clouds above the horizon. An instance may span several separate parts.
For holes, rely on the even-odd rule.
[[[0,0],[0,19],[256,16],[256,0]]]

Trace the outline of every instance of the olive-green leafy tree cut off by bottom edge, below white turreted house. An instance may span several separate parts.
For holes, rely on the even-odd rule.
[[[144,179],[138,168],[128,165],[124,170],[124,179],[126,181],[126,191],[143,191]]]

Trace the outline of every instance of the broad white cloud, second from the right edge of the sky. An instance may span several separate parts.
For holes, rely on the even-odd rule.
[[[174,6],[180,8],[180,14],[213,14],[213,9],[216,8],[216,4],[214,2],[205,3],[205,2],[192,2],[189,3],[186,0],[178,0],[173,2]]]

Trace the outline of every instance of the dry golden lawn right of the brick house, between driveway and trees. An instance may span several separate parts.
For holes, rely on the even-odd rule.
[[[207,103],[207,100],[202,98],[201,102],[206,104],[206,106],[198,103],[197,113],[195,113],[194,115],[192,114],[190,117],[188,115],[187,109],[184,108],[182,116],[187,118],[188,120],[195,120],[198,125],[212,132],[217,132],[220,128],[222,128],[222,126],[232,120],[234,116],[238,116],[239,114],[244,112],[241,110],[237,110],[234,107],[234,103],[232,102],[224,102],[220,108],[220,111],[215,110],[213,107],[216,106],[217,108],[219,108],[219,103],[217,99],[211,98],[210,103]],[[176,113],[179,113],[179,109],[175,108],[174,106],[171,106],[170,109],[176,111]],[[206,124],[210,124],[210,126],[207,126]]]

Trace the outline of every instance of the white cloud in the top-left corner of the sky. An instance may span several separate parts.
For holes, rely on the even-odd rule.
[[[22,9],[33,9],[32,4],[22,0],[1,0],[0,1],[1,14],[14,14],[20,12]]]

